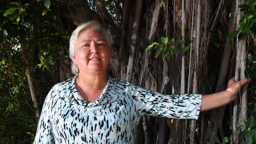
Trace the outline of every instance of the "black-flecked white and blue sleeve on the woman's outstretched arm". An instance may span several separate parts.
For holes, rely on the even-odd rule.
[[[198,119],[202,95],[166,95],[130,83],[132,99],[141,116]]]

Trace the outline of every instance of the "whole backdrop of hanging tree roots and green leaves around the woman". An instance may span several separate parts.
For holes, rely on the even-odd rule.
[[[33,142],[46,94],[73,76],[69,38],[82,22],[98,20],[111,34],[113,77],[209,94],[233,76],[256,77],[255,11],[256,0],[2,0],[0,143]],[[255,143],[254,79],[247,88],[197,121],[143,117],[135,141]]]

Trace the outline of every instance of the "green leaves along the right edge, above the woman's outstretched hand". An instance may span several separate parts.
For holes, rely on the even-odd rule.
[[[256,0],[245,0],[244,4],[239,5],[241,11],[241,17],[239,20],[239,26],[237,30],[228,35],[227,40],[234,39],[237,35],[238,41],[245,38],[248,35],[251,39],[255,39],[256,32]],[[255,44],[249,45],[250,50],[256,50]],[[249,54],[248,67],[246,68],[245,75],[248,78],[256,78],[256,55]]]

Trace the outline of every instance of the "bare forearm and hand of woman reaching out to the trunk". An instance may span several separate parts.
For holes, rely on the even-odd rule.
[[[228,81],[228,88],[221,92],[206,94],[202,96],[202,105],[200,111],[208,111],[217,107],[221,107],[236,100],[240,88],[248,83],[250,79],[242,79],[235,81],[235,77]]]

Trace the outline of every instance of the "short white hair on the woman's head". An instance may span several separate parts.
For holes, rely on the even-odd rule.
[[[70,40],[69,40],[69,57],[72,60],[71,61],[71,71],[75,75],[79,74],[79,69],[78,69],[77,65],[75,65],[73,62],[73,57],[75,56],[76,42],[77,42],[77,39],[78,39],[78,36],[80,35],[80,33],[82,33],[84,30],[88,30],[88,29],[100,31],[108,44],[109,50],[111,51],[110,36],[109,36],[108,32],[104,28],[102,28],[100,23],[93,20],[93,21],[89,21],[89,22],[85,22],[85,23],[81,24],[80,26],[78,26],[76,28],[76,30],[73,31],[73,33],[70,37]]]

